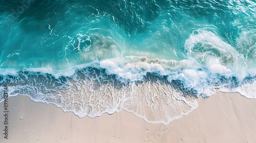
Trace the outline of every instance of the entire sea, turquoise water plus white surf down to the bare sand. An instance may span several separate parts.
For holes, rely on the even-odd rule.
[[[177,96],[175,107],[165,100],[168,107],[182,112],[156,120],[161,123],[195,109],[193,98],[209,97],[215,88],[256,97],[254,1],[34,0],[4,1],[0,8],[0,85],[9,84],[12,96],[79,117],[125,109],[146,118],[129,108],[129,98],[140,94],[137,82],[143,92],[156,88],[146,83],[158,83],[155,90],[168,87]],[[145,99],[164,96],[155,90]],[[116,100],[106,107],[102,98],[91,103],[76,96],[87,94]],[[190,110],[181,111],[178,101]],[[93,111],[96,106],[103,109]]]

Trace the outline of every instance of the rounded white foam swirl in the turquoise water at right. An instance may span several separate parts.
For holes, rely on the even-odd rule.
[[[248,76],[243,56],[212,32],[195,31],[186,40],[185,48],[190,59],[209,69],[212,74],[235,76],[240,80]]]

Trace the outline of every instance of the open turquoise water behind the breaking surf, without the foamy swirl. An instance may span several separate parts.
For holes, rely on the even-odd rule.
[[[34,1],[13,19],[10,9],[19,6],[1,4],[2,68],[64,69],[124,56],[188,59],[184,44],[197,30],[247,57],[255,39],[250,1]]]

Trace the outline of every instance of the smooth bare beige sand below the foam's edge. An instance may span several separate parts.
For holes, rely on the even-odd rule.
[[[256,100],[239,93],[217,92],[168,125],[148,124],[126,111],[79,118],[23,96],[8,103],[9,139],[1,134],[0,142],[256,142]],[[1,103],[1,132],[3,107]]]

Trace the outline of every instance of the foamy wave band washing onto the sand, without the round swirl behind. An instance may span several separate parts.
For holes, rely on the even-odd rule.
[[[188,60],[125,57],[65,70],[3,70],[0,84],[10,86],[11,96],[21,94],[36,102],[52,103],[79,117],[124,109],[147,122],[163,124],[196,109],[197,99],[211,96],[215,88],[256,97],[255,77],[240,80],[191,67],[195,65]]]

